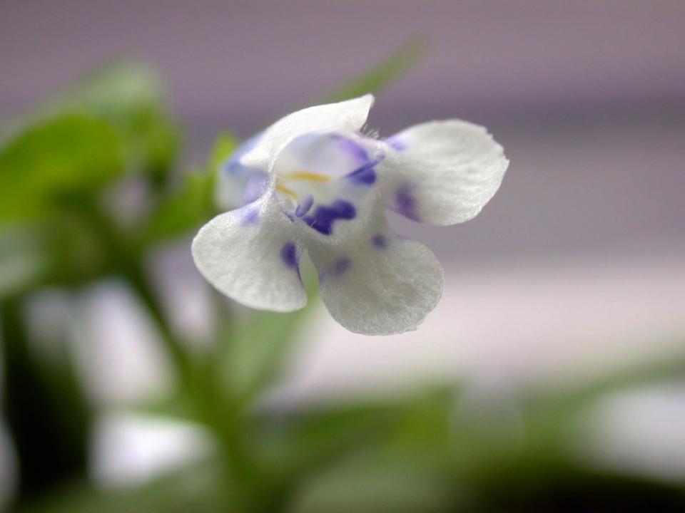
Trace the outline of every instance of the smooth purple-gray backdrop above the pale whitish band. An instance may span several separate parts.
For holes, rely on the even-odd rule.
[[[685,242],[684,26],[678,0],[3,0],[0,117],[132,55],[165,78],[198,161],[218,130],[249,135],[424,36],[370,125],[466,118],[512,166],[474,222],[403,230],[457,261],[652,252]]]

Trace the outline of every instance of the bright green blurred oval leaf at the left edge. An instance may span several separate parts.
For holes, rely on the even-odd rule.
[[[108,123],[80,114],[47,120],[0,150],[0,222],[35,217],[121,170],[121,140]]]

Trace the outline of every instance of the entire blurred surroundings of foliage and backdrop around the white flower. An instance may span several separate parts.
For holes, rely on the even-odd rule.
[[[1,200],[51,199],[0,207],[1,502],[684,510],[684,22],[676,0],[3,0]],[[97,78],[113,58],[158,78]],[[97,87],[73,93],[84,73]],[[359,76],[382,86],[382,135],[463,118],[511,160],[472,222],[391,219],[445,266],[439,306],[413,333],[370,338],[315,294],[290,316],[218,299],[189,252],[211,207],[174,217],[210,197],[209,155]],[[123,141],[124,162],[79,160],[108,178],[76,191],[1,176],[19,173],[24,127],[73,108]],[[87,133],[108,152],[108,133],[68,126],[66,145]],[[83,233],[74,221],[98,216]],[[51,242],[26,256],[36,227]],[[56,247],[59,266],[16,286]]]

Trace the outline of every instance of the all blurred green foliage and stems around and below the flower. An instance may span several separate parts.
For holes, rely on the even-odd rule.
[[[325,100],[382,90],[423,49],[408,42]],[[235,138],[220,135],[203,166],[174,180],[178,130],[154,74],[132,63],[102,68],[27,119],[0,147],[0,374],[21,464],[18,511],[540,511],[555,510],[568,490],[589,504],[601,495],[602,504],[619,510],[657,496],[683,509],[678,487],[600,476],[567,451],[569,425],[597,398],[681,377],[682,362],[492,408],[473,407],[457,387],[269,408],[263,400],[281,382],[303,323],[318,307],[308,274],[310,303],[293,314],[245,311],[215,294],[218,322],[210,345],[199,349],[174,331],[146,274],[153,250],[216,214],[217,170],[238,145]],[[126,224],[103,199],[132,172],[146,186],[147,208]],[[215,450],[152,482],[105,491],[86,480],[96,412],[72,346],[60,341],[56,361],[41,359],[31,350],[21,306],[44,286],[68,287],[78,297],[86,282],[112,275],[138,295],[177,378],[165,398],[130,408],[195,423]]]

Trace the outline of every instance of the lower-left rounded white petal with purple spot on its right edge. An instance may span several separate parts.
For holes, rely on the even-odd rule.
[[[300,280],[301,249],[273,191],[220,214],[193,239],[193,259],[210,284],[245,306],[293,311],[307,304]]]

